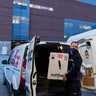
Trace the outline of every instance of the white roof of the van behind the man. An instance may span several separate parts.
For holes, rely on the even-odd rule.
[[[89,30],[84,33],[80,33],[80,34],[69,37],[69,39],[67,40],[67,43],[71,43],[72,41],[78,41],[81,39],[91,39],[95,36],[96,36],[96,29]]]

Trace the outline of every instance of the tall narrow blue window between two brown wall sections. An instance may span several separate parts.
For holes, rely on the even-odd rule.
[[[28,41],[30,0],[14,0],[13,4],[12,40]]]

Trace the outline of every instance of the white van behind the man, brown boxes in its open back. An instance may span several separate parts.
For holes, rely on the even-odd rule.
[[[81,72],[82,87],[96,90],[96,29],[71,36],[67,43],[79,42],[79,51],[83,59]]]

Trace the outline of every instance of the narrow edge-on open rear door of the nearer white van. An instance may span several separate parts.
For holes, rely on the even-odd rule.
[[[36,96],[37,73],[34,60],[34,48],[37,41],[37,36],[34,36],[29,45],[26,64],[26,96]]]

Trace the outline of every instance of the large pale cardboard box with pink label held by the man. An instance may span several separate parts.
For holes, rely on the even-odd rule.
[[[62,80],[61,75],[65,74],[68,69],[69,54],[67,53],[50,53],[48,79]]]

